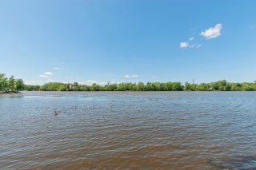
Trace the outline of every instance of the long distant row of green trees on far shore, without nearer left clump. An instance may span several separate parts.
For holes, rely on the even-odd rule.
[[[210,83],[181,82],[122,82],[108,85],[79,85],[65,83],[46,83],[37,89],[42,91],[256,91],[256,82],[232,83],[226,80]]]

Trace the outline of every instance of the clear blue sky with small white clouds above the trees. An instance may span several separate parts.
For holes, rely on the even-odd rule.
[[[256,81],[256,1],[0,1],[0,73],[28,84]]]

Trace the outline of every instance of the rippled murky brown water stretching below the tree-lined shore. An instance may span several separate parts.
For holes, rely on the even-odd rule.
[[[255,104],[254,92],[2,95],[0,168],[256,169]]]

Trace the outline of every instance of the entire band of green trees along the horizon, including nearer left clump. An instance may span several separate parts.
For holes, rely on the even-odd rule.
[[[9,78],[0,73],[0,91],[256,91],[256,81],[233,83],[226,80],[210,83],[181,82],[122,82],[107,85],[80,85],[74,83],[50,82],[44,85],[24,85],[22,79]]]

